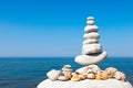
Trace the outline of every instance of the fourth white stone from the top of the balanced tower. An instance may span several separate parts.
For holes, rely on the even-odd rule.
[[[83,37],[85,38],[85,40],[99,40],[100,38],[100,35],[96,33],[96,32],[91,32],[91,33],[85,33],[84,35],[83,35]]]

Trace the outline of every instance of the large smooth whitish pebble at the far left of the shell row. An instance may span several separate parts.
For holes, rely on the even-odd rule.
[[[61,74],[61,70],[52,69],[47,73],[47,76],[50,80],[54,81],[54,80],[58,80],[58,77],[60,76],[60,74]]]

